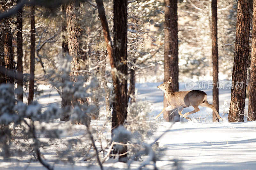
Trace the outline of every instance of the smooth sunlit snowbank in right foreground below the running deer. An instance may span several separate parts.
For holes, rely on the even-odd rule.
[[[170,123],[158,123],[158,132]],[[255,169],[256,122],[177,122],[160,144],[167,148],[156,165],[168,169],[173,159],[183,169]]]

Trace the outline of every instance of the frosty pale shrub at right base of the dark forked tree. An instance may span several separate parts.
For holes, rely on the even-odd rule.
[[[113,142],[123,143],[127,146],[129,158],[138,160],[141,156],[148,154],[145,150],[147,140],[152,135],[154,123],[147,121],[148,113],[151,112],[151,105],[147,101],[137,100],[129,104],[127,118],[124,126],[119,126],[113,130]],[[122,150],[124,145],[116,144],[115,149]]]

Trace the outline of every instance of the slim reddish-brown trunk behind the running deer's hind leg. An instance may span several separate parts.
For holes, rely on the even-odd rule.
[[[219,58],[217,30],[217,0],[212,0],[212,104],[217,112],[219,112]],[[212,112],[212,122],[219,122],[219,119],[214,112]]]

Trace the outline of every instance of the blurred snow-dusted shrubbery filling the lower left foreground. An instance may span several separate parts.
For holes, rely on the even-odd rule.
[[[70,58],[56,58],[53,62],[56,68],[48,69],[49,82],[60,92],[62,88],[62,97],[72,101],[72,105],[64,108],[49,105],[44,109],[36,101],[27,105],[15,100],[13,85],[0,85],[0,148],[4,158],[31,156],[45,167],[51,167],[43,160],[40,150],[54,150],[56,161],[71,163],[91,154],[92,139],[86,127],[90,126],[88,117],[97,114],[97,107],[90,101],[103,96],[97,67],[88,59],[81,66],[84,70],[70,78]],[[63,114],[68,114],[70,121],[54,124]],[[86,127],[72,126],[74,120],[82,121]]]

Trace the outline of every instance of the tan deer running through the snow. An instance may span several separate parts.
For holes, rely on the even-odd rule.
[[[191,90],[191,91],[181,91],[181,92],[174,92],[172,89],[172,77],[164,82],[161,85],[158,85],[157,88],[164,91],[165,97],[168,101],[168,106],[165,107],[161,113],[159,113],[154,119],[158,118],[163,112],[170,111],[175,108],[178,108],[179,115],[182,117],[191,120],[187,115],[191,115],[192,113],[196,113],[199,111],[198,106],[209,107],[211,108],[217,117],[223,121],[220,117],[219,113],[217,112],[216,108],[209,104],[207,101],[207,94],[201,90]],[[183,108],[193,106],[194,110],[185,114],[181,114]]]

